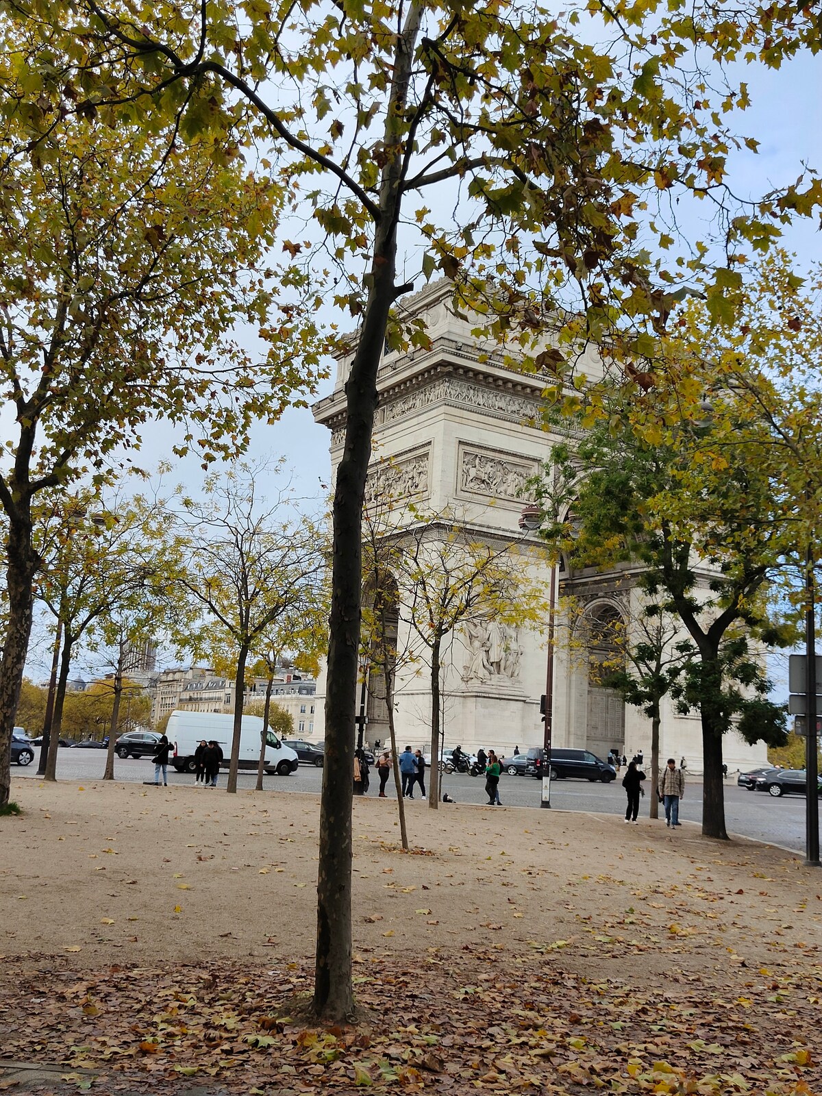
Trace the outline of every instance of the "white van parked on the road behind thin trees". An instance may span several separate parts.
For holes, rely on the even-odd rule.
[[[214,740],[222,747],[222,767],[228,768],[231,758],[235,717],[217,711],[172,711],[165,728],[174,754],[171,764],[178,773],[194,772],[194,751],[203,739]],[[263,721],[259,716],[243,716],[240,726],[240,768],[255,769],[260,761],[260,738]],[[284,745],[269,728],[265,738],[265,772],[288,776],[296,773],[299,758],[290,746]]]

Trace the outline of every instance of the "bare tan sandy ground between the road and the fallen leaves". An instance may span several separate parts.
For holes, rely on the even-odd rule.
[[[0,957],[78,969],[307,959],[313,951],[319,803],[313,796],[16,780],[0,819]],[[646,977],[676,955],[721,977],[779,956],[819,962],[822,875],[697,827],[515,808],[408,804],[415,854],[398,850],[396,804],[354,803],[359,950],[484,941],[561,952],[564,969]],[[61,962],[61,964],[62,964]]]

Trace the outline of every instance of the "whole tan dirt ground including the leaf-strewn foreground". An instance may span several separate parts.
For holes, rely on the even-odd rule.
[[[252,1030],[259,1031],[265,987],[273,1000],[310,984],[315,797],[32,780],[15,781],[12,794],[25,813],[0,820],[0,952],[10,1016],[3,1055],[99,1064],[96,1043],[79,1059],[68,1048],[89,1038],[83,1026],[91,1026],[94,1039],[114,1038],[116,997],[118,1046],[132,1055],[127,1068],[142,1070],[158,1085],[176,1070],[179,1081],[182,1069],[205,1069],[202,1053],[180,1066],[180,1048],[178,1058],[153,1051],[140,1057],[138,1049],[145,1042],[138,1036],[149,1029],[150,1039],[157,1036],[158,994],[173,996],[183,983],[196,983],[198,1000],[213,998],[213,1007],[224,1008],[226,993],[247,986],[256,1012],[249,1006],[238,1015],[255,1017]],[[534,1016],[515,1025],[514,1073],[502,1070],[496,1081],[471,1082],[475,1088],[561,1081],[562,1091],[582,1091],[598,1087],[593,1078],[602,1077],[618,1091],[676,1091],[659,1087],[659,1077],[646,1071],[643,1055],[654,1051],[637,1050],[641,1028],[642,1046],[674,1063],[676,1084],[685,1084],[688,1062],[700,1060],[694,1083],[703,1087],[695,1092],[746,1091],[704,1081],[718,1076],[720,1066],[727,1076],[741,1071],[752,1091],[822,1091],[812,1053],[806,1061],[803,1050],[818,1041],[822,1020],[822,875],[777,849],[705,841],[688,825],[672,832],[648,820],[627,826],[614,817],[558,811],[444,804],[433,812],[423,803],[409,806],[418,850],[406,856],[396,847],[392,802],[354,804],[357,992],[379,1017],[372,1049],[380,1040],[396,1043],[402,1038],[398,1028],[408,1029],[408,1023],[413,1049],[423,1018],[436,1015],[431,1046],[438,1047],[434,1064],[442,1069],[421,1068],[398,1080],[388,1075],[397,1073],[390,1053],[380,1059],[390,1066],[384,1075],[368,1048],[352,1044],[327,1063],[327,1087],[357,1083],[355,1051],[369,1071],[368,1084],[453,1087],[465,1070],[470,1073],[463,1043],[476,1068],[486,1066],[496,1044],[514,1038],[506,1028],[489,1041],[489,1030],[510,1026],[512,1013],[536,1009],[536,1028]],[[62,1003],[59,1031],[52,1015],[56,1002]],[[38,1008],[44,1015],[33,1025]],[[105,1036],[96,1019],[103,1012],[112,1032]],[[144,1016],[145,1027],[130,1037],[123,1034],[129,1013],[132,1024]],[[448,1030],[457,1016],[459,1055],[450,1050],[458,1034]],[[213,1020],[199,1017],[201,1051],[209,1046]],[[630,1040],[625,1023],[632,1025]],[[475,1047],[477,1024],[481,1039]],[[583,1032],[580,1047],[572,1046],[576,1028],[589,1024],[596,1038]],[[664,1039],[657,1047],[665,1025],[673,1025],[676,1037],[670,1047]],[[281,1027],[271,1029],[272,1043],[299,1036]],[[709,1043],[720,1050],[704,1052]],[[550,1046],[560,1047],[560,1061],[547,1052]],[[246,1043],[243,1052],[252,1047]],[[322,1064],[308,1051],[306,1059],[305,1049],[296,1055],[300,1062]],[[528,1073],[520,1051],[536,1072]],[[207,1060],[227,1061],[225,1047],[219,1052],[222,1059],[209,1053]],[[636,1075],[631,1052],[640,1055]],[[711,1054],[719,1057],[713,1061]],[[783,1062],[785,1054],[795,1060]],[[449,1055],[459,1059],[463,1073],[450,1069]],[[605,1065],[596,1065],[601,1059],[616,1070],[610,1080]],[[339,1078],[332,1060],[345,1063]],[[557,1072],[569,1061],[582,1063],[578,1076],[570,1068]],[[214,1070],[209,1076],[233,1085],[228,1066]],[[306,1080],[297,1074],[295,1092]],[[520,1080],[512,1085],[514,1074]],[[755,1076],[758,1083],[750,1080]],[[365,1077],[358,1083],[365,1086]]]

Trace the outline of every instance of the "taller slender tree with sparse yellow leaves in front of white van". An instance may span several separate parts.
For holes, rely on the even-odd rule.
[[[237,791],[246,669],[249,654],[277,621],[299,613],[322,585],[322,532],[297,513],[286,490],[273,503],[258,480],[267,465],[239,465],[210,476],[202,499],[183,495],[173,515],[185,541],[180,587],[210,620],[210,649],[228,644],[235,670],[235,712],[227,791]],[[288,517],[283,514],[288,513]]]

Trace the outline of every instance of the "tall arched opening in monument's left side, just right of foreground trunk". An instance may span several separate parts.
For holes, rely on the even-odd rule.
[[[363,590],[363,617],[366,652],[361,667],[365,684],[361,716],[365,716],[363,741],[374,746],[390,737],[386,671],[392,688],[400,620],[400,592],[390,571],[383,571],[378,581],[369,581]]]

